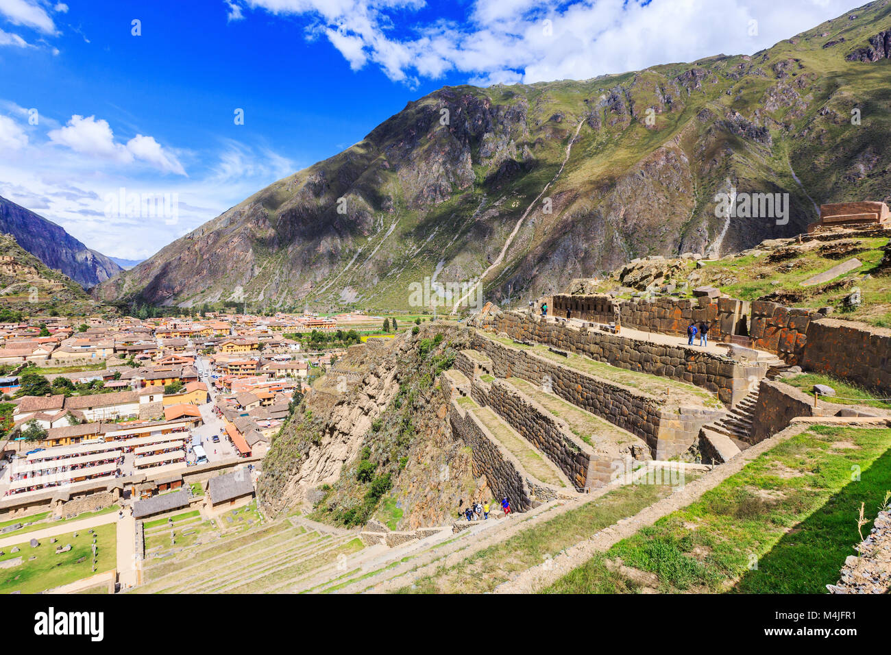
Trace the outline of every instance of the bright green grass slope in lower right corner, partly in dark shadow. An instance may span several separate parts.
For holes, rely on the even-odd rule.
[[[887,489],[891,430],[815,426],[544,593],[640,590],[634,576],[610,570],[621,560],[654,574],[647,585],[660,592],[825,594],[860,542],[861,503],[874,518]]]

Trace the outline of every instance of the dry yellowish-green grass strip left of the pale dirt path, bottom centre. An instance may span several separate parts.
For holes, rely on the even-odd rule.
[[[689,479],[688,479],[689,481]],[[568,546],[577,544],[619,519],[633,516],[644,507],[671,493],[665,485],[626,485],[569,510],[551,520],[527,528],[502,543],[478,553],[434,575],[415,581],[414,589],[400,593],[481,594],[513,575],[541,564]],[[500,509],[500,508],[493,508]]]

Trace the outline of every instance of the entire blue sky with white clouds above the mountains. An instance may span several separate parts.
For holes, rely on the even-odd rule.
[[[440,86],[753,53],[856,5],[0,0],[0,195],[146,258]],[[176,217],[110,212],[121,187],[176,193]]]

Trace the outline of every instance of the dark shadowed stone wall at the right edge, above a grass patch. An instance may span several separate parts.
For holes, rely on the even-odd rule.
[[[891,397],[891,330],[830,318],[811,321],[801,365]]]

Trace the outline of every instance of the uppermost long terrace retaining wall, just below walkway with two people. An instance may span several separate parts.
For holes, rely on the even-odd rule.
[[[766,373],[765,364],[739,364],[729,357],[696,348],[634,340],[565,323],[548,323],[519,312],[496,315],[495,330],[513,339],[549,344],[629,371],[694,384],[715,392],[725,405],[733,405],[746,397],[751,380],[760,380]]]

